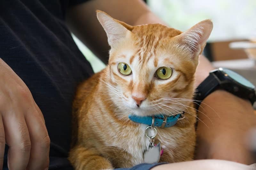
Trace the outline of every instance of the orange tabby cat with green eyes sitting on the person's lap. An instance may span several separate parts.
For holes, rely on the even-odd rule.
[[[172,127],[156,127],[155,143],[164,150],[160,162],[193,159],[194,73],[212,22],[204,20],[180,32],[161,24],[127,25],[102,11],[97,17],[111,46],[109,62],[77,90],[72,165],[92,170],[143,163],[148,125],[133,122],[128,115],[169,116],[181,111],[185,119]]]

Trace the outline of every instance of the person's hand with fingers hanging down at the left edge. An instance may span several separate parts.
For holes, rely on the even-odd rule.
[[[47,169],[50,138],[26,84],[0,58],[0,169],[5,143],[9,169]]]

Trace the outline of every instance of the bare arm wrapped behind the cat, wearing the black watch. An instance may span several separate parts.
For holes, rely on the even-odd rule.
[[[109,46],[105,32],[95,17],[95,10],[97,9],[105,11],[112,17],[130,25],[163,23],[140,0],[93,0],[70,9],[67,14],[70,29],[105,63],[107,62]],[[204,56],[200,56],[199,66],[195,74],[197,85],[207,77],[212,69],[214,68],[211,63]],[[203,103],[208,106],[202,104],[204,109],[200,107],[199,111],[210,117],[213,125],[211,121],[204,118],[204,114],[199,112],[198,117],[203,119],[209,128],[204,126],[202,122],[198,122],[199,145],[197,150],[199,152],[197,152],[196,158],[228,159],[249,164],[252,161],[252,156],[246,150],[243,141],[245,132],[256,122],[252,106],[249,105],[248,101],[220,90],[209,95]],[[214,110],[218,112],[220,118]],[[231,146],[235,146],[235,148]],[[221,148],[221,150],[216,149],[216,147]]]

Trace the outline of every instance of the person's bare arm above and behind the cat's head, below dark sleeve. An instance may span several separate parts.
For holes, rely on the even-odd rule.
[[[142,0],[92,0],[68,10],[66,18],[70,30],[96,56],[104,63],[107,63],[110,46],[108,45],[106,33],[96,17],[96,10],[105,11],[113,18],[124,21],[127,24],[138,25],[136,23],[138,18],[147,14],[149,9]],[[141,20],[140,24],[150,23],[150,19],[146,21],[143,22]]]

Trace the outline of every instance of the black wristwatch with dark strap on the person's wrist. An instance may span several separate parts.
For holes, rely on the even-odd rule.
[[[218,68],[211,71],[209,76],[196,88],[196,109],[206,96],[217,89],[223,89],[238,97],[248,99],[252,105],[256,101],[255,86],[250,81],[227,68]]]

